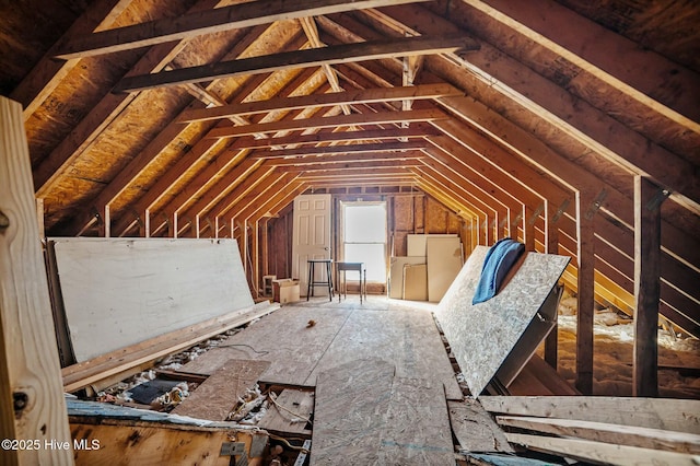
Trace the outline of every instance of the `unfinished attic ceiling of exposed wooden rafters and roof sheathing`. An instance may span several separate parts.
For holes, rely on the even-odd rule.
[[[240,237],[308,190],[419,190],[631,313],[643,206],[662,314],[697,336],[697,24],[674,0],[2,2],[0,92],[47,235]]]

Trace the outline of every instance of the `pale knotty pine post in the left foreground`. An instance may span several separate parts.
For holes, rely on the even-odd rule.
[[[0,436],[25,442],[18,448],[3,443],[0,464],[70,465],[72,441],[23,121],[22,105],[0,96]],[[57,443],[66,448],[52,448]]]

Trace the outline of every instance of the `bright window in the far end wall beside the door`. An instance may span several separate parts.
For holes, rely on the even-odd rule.
[[[342,260],[364,263],[368,281],[386,282],[386,202],[342,202]]]

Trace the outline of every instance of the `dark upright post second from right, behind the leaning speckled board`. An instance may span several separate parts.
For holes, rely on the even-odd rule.
[[[584,395],[593,393],[593,315],[595,306],[595,257],[593,218],[595,200],[586,193],[576,193],[578,312],[576,312],[576,388]]]

